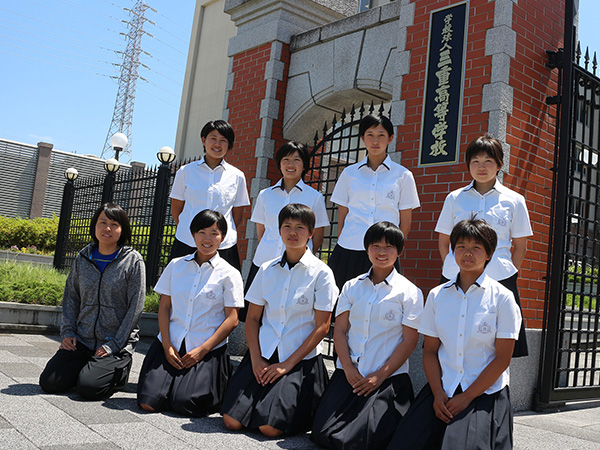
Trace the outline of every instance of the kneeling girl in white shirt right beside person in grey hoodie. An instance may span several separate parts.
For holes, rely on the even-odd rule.
[[[244,303],[243,283],[217,252],[227,234],[223,214],[199,212],[190,232],[196,252],[172,260],[154,288],[160,334],[144,359],[137,398],[147,411],[202,417],[218,411],[231,374],[227,337]]]

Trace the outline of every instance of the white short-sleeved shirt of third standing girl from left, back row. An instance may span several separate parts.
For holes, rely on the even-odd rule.
[[[344,169],[331,201],[348,208],[338,244],[347,250],[364,250],[363,238],[369,227],[382,220],[400,224],[400,210],[420,206],[415,179],[410,170],[389,156],[377,170],[367,158]]]

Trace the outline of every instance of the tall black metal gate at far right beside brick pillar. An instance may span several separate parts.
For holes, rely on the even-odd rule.
[[[566,29],[538,408],[600,398],[600,78]]]

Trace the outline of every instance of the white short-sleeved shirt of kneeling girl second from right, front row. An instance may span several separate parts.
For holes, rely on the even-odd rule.
[[[373,285],[369,273],[347,281],[336,315],[350,311],[350,359],[362,376],[379,370],[403,340],[404,326],[419,328],[423,293],[396,270]],[[337,368],[342,369],[338,358]],[[408,373],[408,359],[392,375]]]

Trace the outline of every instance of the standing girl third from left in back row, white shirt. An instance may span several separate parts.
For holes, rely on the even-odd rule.
[[[398,225],[406,238],[412,210],[419,206],[412,173],[387,154],[394,139],[394,126],[387,117],[367,115],[358,130],[367,157],[346,167],[331,201],[338,205],[338,241],[329,258],[338,287],[369,270],[363,248],[367,229],[382,220]]]

